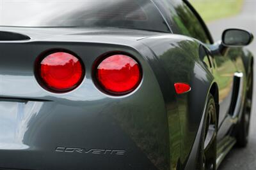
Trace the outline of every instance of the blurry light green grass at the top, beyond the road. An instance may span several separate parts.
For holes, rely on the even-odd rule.
[[[244,0],[191,0],[205,22],[237,15]]]

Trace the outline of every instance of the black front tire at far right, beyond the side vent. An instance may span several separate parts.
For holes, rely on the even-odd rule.
[[[253,69],[248,74],[248,83],[246,87],[246,99],[244,101],[243,114],[239,124],[237,124],[237,143],[238,147],[246,147],[248,144],[250,117],[252,111],[252,96],[253,96]]]

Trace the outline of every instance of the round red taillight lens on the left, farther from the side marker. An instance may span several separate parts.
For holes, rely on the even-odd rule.
[[[83,80],[83,66],[79,59],[66,52],[47,55],[40,62],[42,83],[54,92],[67,92],[75,89]]]

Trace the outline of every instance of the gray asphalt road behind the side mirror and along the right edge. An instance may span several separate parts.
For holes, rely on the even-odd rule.
[[[223,0],[230,1],[230,0]],[[255,41],[248,46],[256,57],[256,0],[244,0],[243,11],[230,18],[214,21],[208,24],[212,36],[215,40],[220,40],[223,30],[231,27],[246,29],[253,32]],[[216,10],[218,12],[218,10]],[[256,59],[256,58],[255,58]],[[256,60],[255,60],[256,61]],[[256,80],[256,64],[255,64],[255,80]],[[256,81],[254,83],[253,92],[253,112],[250,127],[250,141],[247,148],[234,148],[221,163],[220,169],[223,170],[255,170],[256,169]]]

